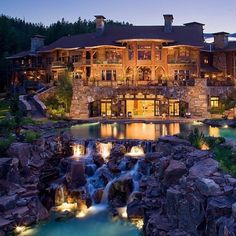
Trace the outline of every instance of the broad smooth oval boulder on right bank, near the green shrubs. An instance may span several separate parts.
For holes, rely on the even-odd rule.
[[[189,177],[191,178],[204,178],[209,177],[219,168],[219,163],[212,158],[203,159],[194,164],[189,169]]]

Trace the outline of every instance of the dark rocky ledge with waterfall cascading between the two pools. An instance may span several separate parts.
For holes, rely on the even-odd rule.
[[[236,179],[219,170],[210,151],[163,137],[151,144],[132,141],[145,154],[127,156],[129,141],[103,142],[109,141],[106,159],[93,141],[96,145],[84,142],[92,151],[79,160],[69,158],[75,140],[66,133],[34,144],[13,143],[0,158],[0,235],[48,218],[49,209],[65,200],[58,188],[55,199],[45,193],[53,181],[66,189],[63,198],[78,205],[106,200],[113,210],[127,206],[129,219],[143,220],[146,236],[235,235]]]

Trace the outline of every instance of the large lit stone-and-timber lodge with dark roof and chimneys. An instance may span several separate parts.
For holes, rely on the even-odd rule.
[[[70,116],[207,116],[231,93],[236,79],[236,42],[228,33],[204,42],[203,26],[106,25],[97,15],[93,33],[65,36],[44,46],[35,35],[31,49],[10,57],[13,82],[73,81]]]

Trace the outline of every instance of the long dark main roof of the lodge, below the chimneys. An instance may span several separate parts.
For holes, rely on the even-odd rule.
[[[198,27],[173,26],[172,32],[166,33],[164,26],[132,26],[106,25],[100,36],[94,33],[65,36],[40,51],[50,51],[57,48],[84,48],[101,45],[119,46],[120,40],[131,39],[161,39],[173,41],[176,45],[203,46],[202,30]]]

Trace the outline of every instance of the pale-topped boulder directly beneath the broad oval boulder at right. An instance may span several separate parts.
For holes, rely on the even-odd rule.
[[[198,178],[196,186],[204,196],[216,196],[220,194],[220,186],[212,179]]]

